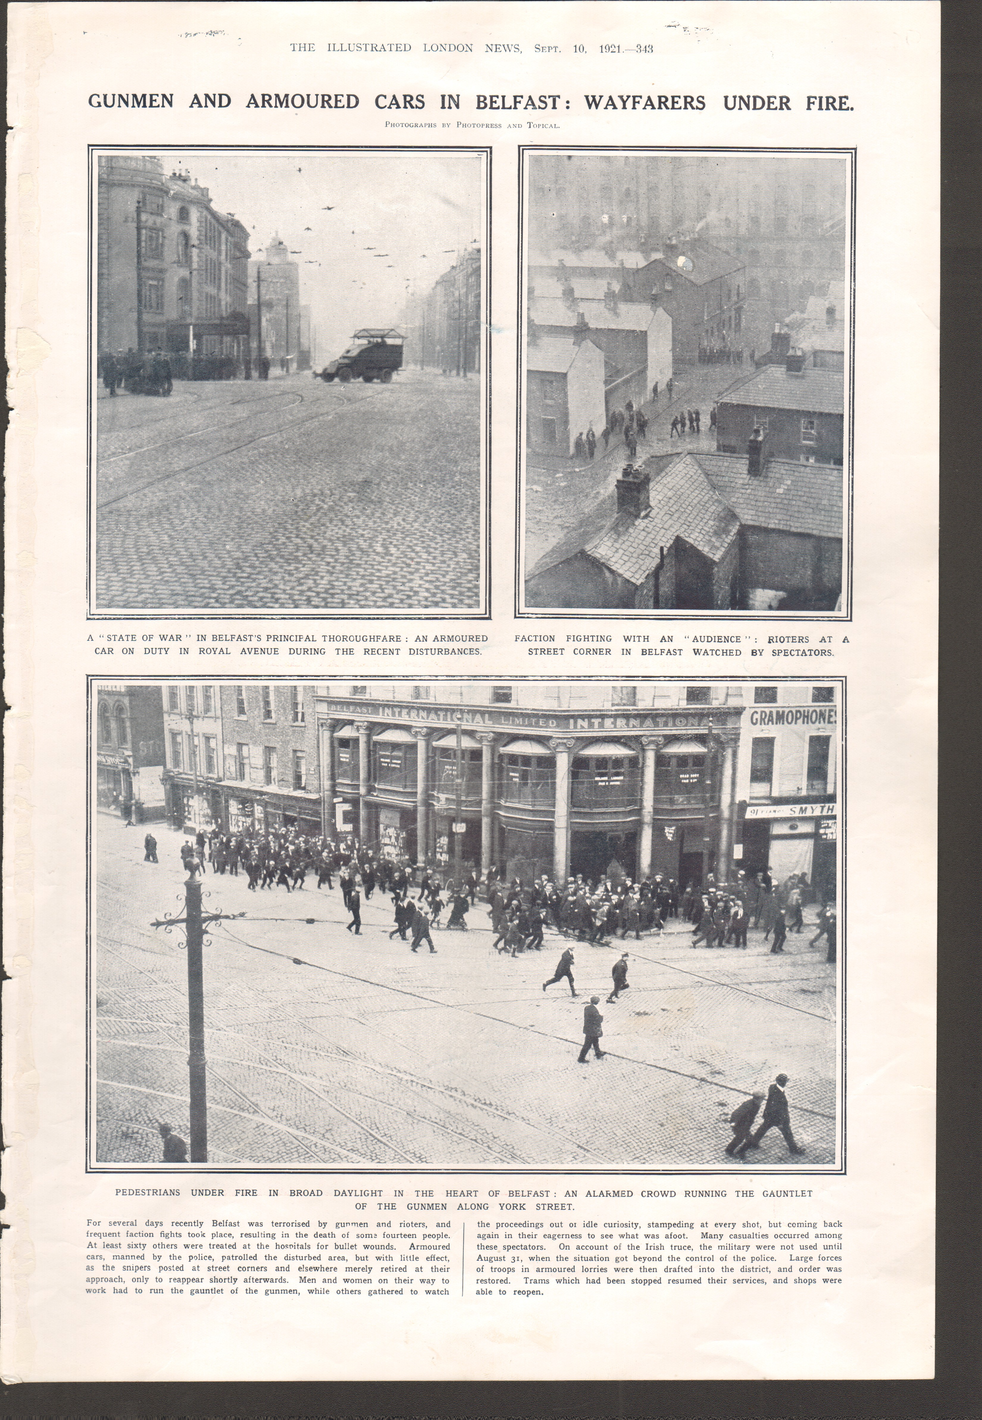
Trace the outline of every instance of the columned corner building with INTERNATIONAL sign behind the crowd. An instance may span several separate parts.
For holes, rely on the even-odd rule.
[[[436,863],[453,859],[456,822],[463,862],[508,878],[728,876],[748,693],[719,682],[335,683],[316,696],[324,798],[362,842]]]

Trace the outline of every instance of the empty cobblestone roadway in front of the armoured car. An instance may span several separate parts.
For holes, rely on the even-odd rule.
[[[99,389],[95,606],[477,609],[480,378]]]

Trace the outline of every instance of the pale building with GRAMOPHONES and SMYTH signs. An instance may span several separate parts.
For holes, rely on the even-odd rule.
[[[748,687],[736,777],[736,862],[776,882],[806,873],[836,896],[839,686]]]

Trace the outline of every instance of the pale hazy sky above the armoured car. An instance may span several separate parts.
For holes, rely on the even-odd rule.
[[[338,355],[359,325],[397,324],[407,291],[429,288],[471,239],[482,244],[477,155],[189,149],[160,158],[165,172],[189,172],[220,212],[234,212],[253,256],[275,233],[295,253],[318,362]]]

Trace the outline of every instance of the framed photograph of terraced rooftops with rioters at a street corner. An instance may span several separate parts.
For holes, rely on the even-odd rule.
[[[519,615],[849,615],[853,176],[524,149]]]

